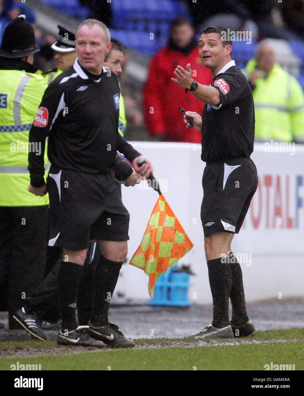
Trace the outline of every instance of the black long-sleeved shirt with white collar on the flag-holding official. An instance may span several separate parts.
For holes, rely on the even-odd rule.
[[[109,70],[103,67],[101,76],[93,76],[76,59],[46,89],[29,132],[30,143],[41,145],[39,155],[28,154],[33,187],[44,185],[47,136],[47,155],[58,168],[106,173],[115,164],[116,150],[131,161],[140,155],[118,133],[120,90]]]

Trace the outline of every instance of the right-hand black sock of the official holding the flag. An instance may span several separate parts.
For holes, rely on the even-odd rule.
[[[94,274],[93,309],[91,324],[96,327],[108,324],[108,310],[122,263],[100,256]]]

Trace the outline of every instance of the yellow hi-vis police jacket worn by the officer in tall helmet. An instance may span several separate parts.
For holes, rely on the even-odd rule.
[[[0,70],[0,206],[42,206],[48,194],[28,192],[28,131],[47,84],[38,72]],[[45,150],[44,163],[49,165]]]

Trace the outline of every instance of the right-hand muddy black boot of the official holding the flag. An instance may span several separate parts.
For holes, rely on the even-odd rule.
[[[135,346],[135,342],[125,337],[118,329],[119,327],[114,323],[108,323],[102,327],[94,327],[89,322],[89,329],[86,331],[91,337],[103,341],[111,348],[132,348]]]

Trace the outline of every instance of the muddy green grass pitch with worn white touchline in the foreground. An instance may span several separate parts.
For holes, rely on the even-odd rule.
[[[40,364],[41,370],[265,370],[294,364],[304,369],[304,329],[257,331],[253,337],[193,340],[136,339],[132,349],[57,346],[54,341],[0,343],[0,369]]]

